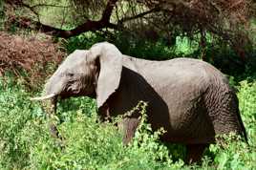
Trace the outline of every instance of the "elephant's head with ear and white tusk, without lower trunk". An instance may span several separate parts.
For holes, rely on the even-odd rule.
[[[122,54],[116,46],[97,43],[90,50],[76,50],[67,56],[45,85],[45,95],[32,100],[56,99],[70,96],[96,98],[97,107],[104,104],[119,85]]]

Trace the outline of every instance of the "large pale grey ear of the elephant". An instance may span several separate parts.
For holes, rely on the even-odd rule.
[[[98,43],[91,48],[99,61],[99,74],[96,84],[96,103],[100,108],[116,92],[122,71],[122,53],[108,42]]]

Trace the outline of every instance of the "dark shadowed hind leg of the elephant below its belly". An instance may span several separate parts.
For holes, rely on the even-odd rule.
[[[202,159],[204,149],[208,144],[187,144],[186,163],[199,162]]]

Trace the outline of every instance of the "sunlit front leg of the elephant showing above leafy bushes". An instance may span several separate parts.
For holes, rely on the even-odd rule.
[[[117,124],[118,129],[123,133],[122,141],[124,145],[127,145],[134,138],[139,122],[140,117],[125,117]]]

